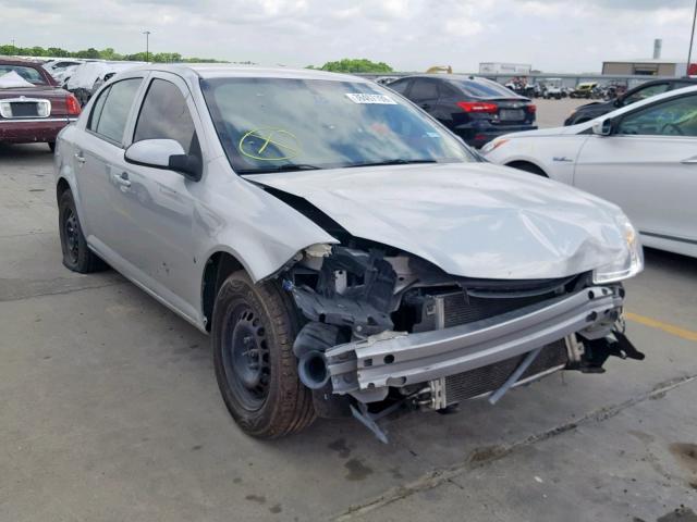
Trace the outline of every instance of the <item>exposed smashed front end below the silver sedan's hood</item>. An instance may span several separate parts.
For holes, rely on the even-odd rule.
[[[367,240],[316,245],[283,273],[307,323],[294,352],[320,417],[375,421],[399,407],[447,411],[558,370],[643,359],[623,334],[624,290],[591,273],[472,279]]]

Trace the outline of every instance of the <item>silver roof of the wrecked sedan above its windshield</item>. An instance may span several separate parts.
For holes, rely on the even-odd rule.
[[[290,69],[290,67],[260,67],[255,65],[233,65],[222,63],[175,63],[159,64],[151,63],[138,67],[130,69],[133,71],[163,71],[179,74],[183,77],[199,78],[288,78],[288,79],[326,79],[334,82],[359,82],[368,83],[366,78],[353,76],[342,73],[330,73],[327,71],[317,71],[313,69]]]

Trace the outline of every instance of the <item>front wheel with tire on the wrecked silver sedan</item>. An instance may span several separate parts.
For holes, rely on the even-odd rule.
[[[292,301],[273,282],[255,285],[240,271],[220,286],[211,326],[216,377],[230,414],[248,435],[278,438],[315,420],[293,353],[299,326]]]

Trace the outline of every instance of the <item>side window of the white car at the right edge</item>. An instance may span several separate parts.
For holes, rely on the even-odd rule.
[[[619,134],[697,136],[697,95],[684,96],[626,115]]]

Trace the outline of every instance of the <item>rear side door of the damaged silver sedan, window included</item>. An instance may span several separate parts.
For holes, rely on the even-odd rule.
[[[127,217],[119,206],[124,185],[124,134],[143,77],[122,79],[99,94],[86,128],[75,140],[73,162],[87,241],[108,261],[118,263],[129,247]]]

